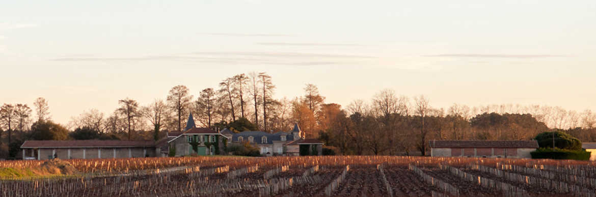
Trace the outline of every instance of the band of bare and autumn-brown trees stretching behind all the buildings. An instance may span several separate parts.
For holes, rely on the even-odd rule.
[[[288,131],[298,123],[306,138],[321,139],[338,154],[349,155],[425,155],[433,139],[522,140],[548,130],[596,142],[596,114],[590,110],[515,104],[434,108],[430,98],[398,95],[392,89],[341,106],[326,101],[312,84],[305,85],[299,98],[276,98],[276,89],[266,73],[237,74],[218,87],[172,87],[148,104],[122,98],[113,101],[119,108],[112,112],[91,108],[73,114],[67,124],[52,122],[44,98],[33,105],[4,104],[0,158],[14,157],[24,140],[159,139],[166,131],[184,129],[190,113],[199,127],[235,132]]]

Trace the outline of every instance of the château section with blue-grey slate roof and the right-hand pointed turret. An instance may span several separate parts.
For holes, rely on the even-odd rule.
[[[222,133],[226,132],[226,130],[222,131]],[[231,135],[232,142],[248,142],[259,148],[261,155],[299,156],[300,145],[309,146],[309,148],[314,146],[314,149],[318,150],[318,155],[321,155],[323,145],[317,139],[304,139],[302,130],[300,130],[298,124],[294,124],[294,128],[288,132],[266,133],[262,131],[246,131],[232,133]]]

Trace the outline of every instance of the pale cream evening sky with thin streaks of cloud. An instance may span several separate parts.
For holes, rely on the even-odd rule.
[[[382,89],[430,105],[596,110],[596,1],[7,1],[0,104],[49,102],[68,123],[272,76],[276,98],[312,83],[346,106]]]

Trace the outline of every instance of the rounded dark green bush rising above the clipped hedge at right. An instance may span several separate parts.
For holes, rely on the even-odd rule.
[[[534,139],[538,141],[538,146],[540,146],[540,148],[552,148],[552,136],[553,132],[542,132],[534,137]],[[567,133],[554,131],[554,137],[556,148],[575,151],[580,151],[582,149],[582,142]]]

